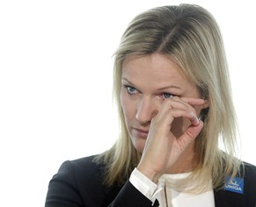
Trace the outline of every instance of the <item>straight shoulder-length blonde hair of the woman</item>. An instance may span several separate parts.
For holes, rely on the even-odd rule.
[[[236,175],[240,162],[237,154],[237,121],[230,92],[230,77],[223,39],[215,18],[198,5],[162,6],[145,11],[128,25],[115,53],[113,95],[120,115],[120,138],[99,155],[107,167],[106,183],[125,182],[140,161],[128,137],[120,103],[121,70],[130,55],[169,55],[179,64],[208,100],[209,108],[201,111],[204,127],[195,143],[198,165],[188,185],[197,179],[201,192],[210,185],[221,188],[227,175]],[[224,152],[219,148],[223,143]]]

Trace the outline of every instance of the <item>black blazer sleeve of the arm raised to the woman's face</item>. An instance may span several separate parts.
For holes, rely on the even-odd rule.
[[[122,186],[104,188],[99,168],[65,161],[48,185],[45,207],[151,207],[152,203],[129,180]],[[90,169],[90,170],[89,170]],[[85,171],[84,171],[85,170]],[[99,173],[100,175],[100,173]],[[85,176],[85,178],[84,178]],[[107,196],[107,197],[106,197]]]

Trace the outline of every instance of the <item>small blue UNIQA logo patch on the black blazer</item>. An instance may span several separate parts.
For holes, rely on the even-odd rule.
[[[230,180],[230,176],[226,177],[225,190],[229,190],[231,192],[243,194],[244,193],[244,179],[239,177],[234,177],[232,180]]]

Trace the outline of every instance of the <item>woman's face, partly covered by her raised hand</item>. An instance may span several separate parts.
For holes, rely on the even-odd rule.
[[[152,54],[128,57],[124,61],[121,108],[129,137],[139,153],[143,153],[152,118],[165,99],[173,96],[200,97],[200,94],[172,59]],[[175,118],[170,130],[179,137],[188,125],[190,122],[185,118]]]

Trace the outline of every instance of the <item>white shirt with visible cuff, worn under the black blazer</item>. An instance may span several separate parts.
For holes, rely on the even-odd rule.
[[[208,189],[208,191],[197,195],[172,189],[173,182],[188,175],[190,173],[162,175],[156,184],[135,168],[129,181],[152,203],[157,199],[160,207],[214,207],[213,189]]]

